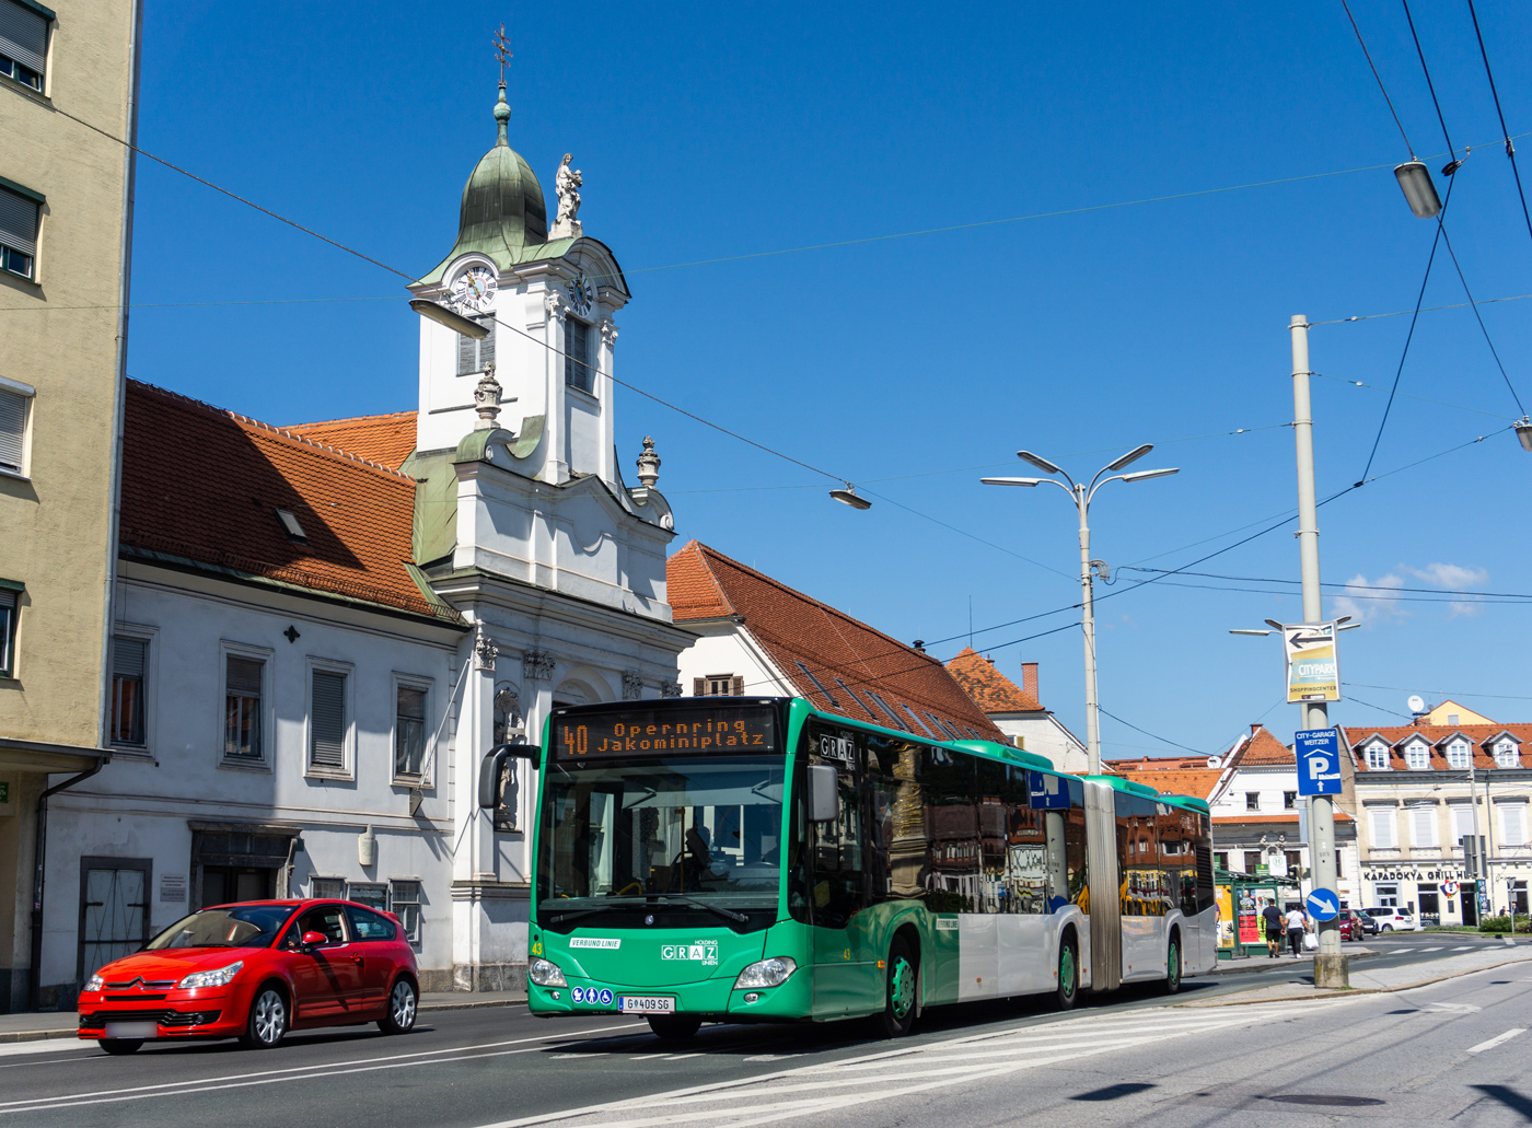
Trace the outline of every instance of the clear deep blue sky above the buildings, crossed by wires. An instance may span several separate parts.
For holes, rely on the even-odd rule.
[[[1478,9],[1509,129],[1532,130],[1532,9]],[[1440,169],[1400,6],[1353,11],[1413,149]],[[1475,297],[1532,293],[1466,6],[1417,0],[1414,15],[1452,139],[1475,150],[1448,212],[1458,261]],[[1079,630],[1002,645],[1075,616],[980,630],[1077,601],[1074,513],[1057,490],[977,478],[1025,472],[1017,448],[1088,478],[1154,441],[1141,464],[1181,474],[1112,484],[1092,509],[1092,555],[1120,576],[1098,589],[1103,707],[1198,751],[1258,719],[1291,736],[1278,644],[1227,628],[1301,618],[1278,595],[1291,585],[1268,582],[1298,576],[1295,524],[1193,569],[1259,582],[1129,592],[1147,573],[1123,569],[1184,566],[1293,509],[1291,314],[1414,307],[1434,224],[1394,184],[1409,152],[1337,2],[155,0],[139,143],[423,273],[493,143],[501,21],[512,144],[550,196],[574,153],[585,231],[634,293],[617,374],[875,498],[838,506],[835,483],[620,392],[619,451],[654,435],[676,547],[696,536],[901,639],[944,639],[942,657],[971,613],[977,648],[1013,677],[1040,662],[1045,703],[1083,734]],[[1097,210],[1049,215],[1075,208]],[[878,238],[910,231],[931,233]],[[847,241],[866,242],[794,251]],[[418,328],[397,277],[149,161],[133,270],[136,379],[273,423],[414,406]],[[1442,254],[1425,303],[1462,300]],[[1532,403],[1532,302],[1481,313]],[[1322,497],[1360,477],[1408,328],[1311,331]],[[1337,608],[1365,628],[1344,636],[1357,699],[1333,717],[1400,723],[1413,691],[1532,716],[1526,604],[1442,601],[1532,592],[1518,414],[1472,313],[1422,314],[1373,474],[1491,437],[1321,510],[1327,581],[1425,589]],[[1111,717],[1103,746],[1177,751]]]

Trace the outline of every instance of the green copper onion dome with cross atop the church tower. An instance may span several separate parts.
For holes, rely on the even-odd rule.
[[[458,242],[421,282],[440,280],[446,265],[469,251],[487,254],[496,267],[507,270],[524,257],[527,247],[548,241],[548,210],[542,202],[542,185],[532,166],[506,141],[509,118],[506,84],[501,83],[499,101],[495,103],[499,136],[463,189]]]

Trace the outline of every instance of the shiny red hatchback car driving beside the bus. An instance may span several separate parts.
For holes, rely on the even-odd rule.
[[[351,901],[245,901],[176,921],[90,976],[80,1038],[133,1053],[149,1038],[277,1045],[288,1030],[415,1025],[420,976],[398,918]]]

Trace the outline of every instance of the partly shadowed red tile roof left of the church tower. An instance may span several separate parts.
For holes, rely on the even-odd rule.
[[[127,382],[119,544],[437,618],[411,578],[415,480]],[[276,510],[291,512],[294,541]]]

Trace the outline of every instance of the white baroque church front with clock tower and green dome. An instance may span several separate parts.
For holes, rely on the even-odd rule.
[[[452,703],[452,972],[466,990],[521,984],[535,895],[536,780],[519,763],[501,808],[481,811],[484,754],[518,731],[538,743],[555,705],[679,694],[676,657],[692,641],[665,599],[674,523],[654,444],[633,487],[613,449],[627,280],[584,236],[568,156],[548,231],[509,118],[501,81],[498,136],[463,190],[457,244],[409,287],[489,330],[475,340],[421,319],[417,446],[401,467],[418,481],[421,582],[475,625]]]

